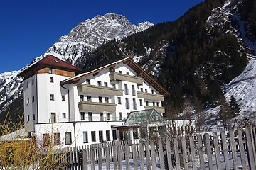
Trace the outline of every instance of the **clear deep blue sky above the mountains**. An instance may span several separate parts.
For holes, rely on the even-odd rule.
[[[131,23],[174,21],[203,0],[4,0],[0,3],[0,73],[21,69],[60,36],[97,14]]]

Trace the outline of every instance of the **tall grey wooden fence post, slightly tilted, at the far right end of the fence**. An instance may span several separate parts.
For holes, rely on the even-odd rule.
[[[247,143],[247,154],[249,154],[249,166],[250,169],[255,169],[255,159],[253,154],[253,148],[252,148],[252,138],[250,135],[249,128],[245,128],[245,134],[246,134],[246,143]]]

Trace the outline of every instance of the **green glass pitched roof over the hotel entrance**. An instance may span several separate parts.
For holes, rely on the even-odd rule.
[[[137,123],[162,123],[164,118],[154,109],[132,111],[129,113],[124,125]]]

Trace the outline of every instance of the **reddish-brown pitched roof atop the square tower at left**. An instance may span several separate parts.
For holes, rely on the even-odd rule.
[[[78,67],[75,67],[72,64],[69,64],[68,62],[64,62],[63,60],[60,60],[59,58],[54,57],[53,55],[46,55],[45,57],[41,58],[41,60],[38,60],[38,62],[31,64],[26,69],[23,69],[21,73],[19,73],[19,75],[22,76],[24,72],[28,71],[28,69],[34,68],[38,65],[46,65],[48,67],[66,69],[73,72],[81,71],[81,69],[79,69]]]

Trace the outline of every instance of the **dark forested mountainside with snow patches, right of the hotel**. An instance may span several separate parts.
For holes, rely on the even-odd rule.
[[[228,102],[231,94],[242,105],[251,103],[243,109],[251,114],[255,111],[255,90],[250,89],[254,85],[243,91],[241,86],[236,90],[230,86],[235,79],[247,79],[241,74],[244,70],[250,69],[252,78],[255,75],[255,10],[255,1],[206,0],[176,21],[98,47],[82,68],[133,57],[169,91],[165,98],[169,117],[187,106],[195,108],[193,113],[220,108],[224,96]],[[210,117],[218,119],[215,113]]]

